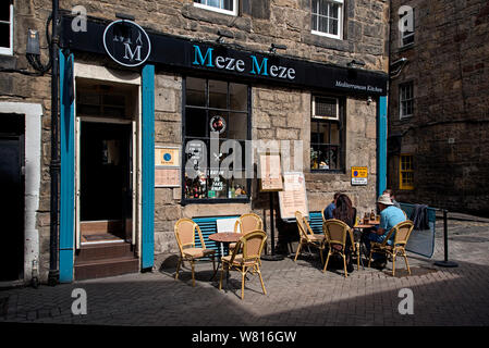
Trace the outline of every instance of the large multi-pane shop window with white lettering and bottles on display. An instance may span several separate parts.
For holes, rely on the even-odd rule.
[[[184,199],[246,200],[249,87],[187,77],[184,114]]]

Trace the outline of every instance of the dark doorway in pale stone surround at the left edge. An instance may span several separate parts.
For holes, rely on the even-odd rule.
[[[23,277],[24,115],[0,114],[0,281]]]

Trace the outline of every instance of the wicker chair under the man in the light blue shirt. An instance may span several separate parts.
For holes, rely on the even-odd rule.
[[[409,220],[401,222],[396,224],[387,235],[386,239],[382,243],[371,243],[370,244],[370,256],[368,257],[368,266],[371,263],[371,254],[374,252],[384,253],[386,256],[392,257],[392,276],[395,275],[395,258],[400,253],[404,257],[404,261],[406,263],[407,272],[411,275],[409,263],[407,262],[406,254],[406,244],[409,239],[411,233],[413,232],[414,223]],[[392,246],[388,244],[389,239],[394,236],[394,241]]]

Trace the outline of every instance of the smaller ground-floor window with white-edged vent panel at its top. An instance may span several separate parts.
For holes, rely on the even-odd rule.
[[[338,98],[314,97],[310,119],[310,170],[342,171],[342,104]]]

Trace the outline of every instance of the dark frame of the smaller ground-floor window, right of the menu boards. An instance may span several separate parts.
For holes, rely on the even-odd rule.
[[[330,98],[330,99],[335,99],[337,100],[337,110],[338,110],[338,120],[333,120],[333,119],[317,119],[314,117],[314,102],[316,100],[316,98]],[[319,146],[338,146],[339,147],[339,151],[338,151],[338,156],[339,156],[339,169],[313,169],[313,162],[309,160],[309,172],[310,173],[323,173],[323,174],[343,174],[345,173],[346,170],[346,164],[345,164],[345,147],[346,147],[346,102],[345,99],[341,96],[334,96],[334,95],[320,95],[320,94],[313,94],[311,95],[311,110],[310,110],[310,115],[309,115],[309,120],[310,120],[310,126],[309,126],[309,159],[310,159],[310,149],[313,148],[313,145],[319,145]],[[331,142],[315,142],[313,139],[313,122],[318,123],[318,124],[338,124],[338,130],[339,130],[339,144],[331,144]],[[331,138],[331,127],[330,127],[330,138]],[[331,165],[329,163],[329,165]]]

